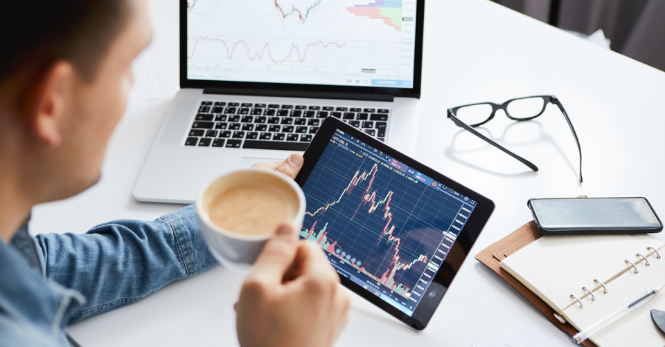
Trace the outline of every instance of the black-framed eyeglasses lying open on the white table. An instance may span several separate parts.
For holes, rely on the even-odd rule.
[[[542,113],[544,113],[545,107],[547,107],[547,104],[549,104],[550,102],[559,107],[561,113],[563,113],[563,116],[566,118],[566,122],[568,122],[568,126],[570,126],[570,131],[573,132],[573,137],[575,138],[575,142],[577,142],[577,149],[580,152],[580,183],[581,183],[582,149],[580,148],[580,141],[577,139],[577,134],[575,133],[573,124],[570,122],[570,118],[568,118],[566,110],[563,108],[561,102],[553,95],[518,97],[517,99],[508,100],[500,105],[495,104],[493,102],[481,102],[479,104],[457,106],[453,107],[452,109],[448,109],[448,118],[450,118],[450,120],[452,120],[457,126],[470,131],[470,133],[485,140],[494,147],[501,149],[502,151],[504,151],[504,153],[508,154],[508,156],[520,160],[520,162],[529,167],[529,169],[532,169],[533,171],[538,171],[538,167],[533,165],[533,163],[530,162],[529,160],[526,160],[520,156],[517,156],[517,154],[508,151],[508,149],[505,149],[504,147],[497,144],[493,140],[486,138],[484,135],[482,135],[478,131],[475,131],[475,129],[473,128],[475,128],[476,126],[481,126],[492,120],[492,118],[494,118],[494,115],[499,110],[504,110],[508,118],[510,118],[511,120],[516,120],[517,122],[522,122],[524,120],[533,120],[533,118],[536,118],[539,115],[542,115]]]

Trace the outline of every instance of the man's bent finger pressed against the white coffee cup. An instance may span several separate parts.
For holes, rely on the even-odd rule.
[[[296,229],[289,224],[280,225],[275,235],[263,246],[248,277],[269,283],[282,283],[285,272],[294,261],[299,245]]]

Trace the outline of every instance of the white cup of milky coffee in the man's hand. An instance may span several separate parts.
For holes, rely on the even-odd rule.
[[[276,198],[281,205],[275,203]],[[290,223],[296,230],[302,227],[305,194],[281,172],[244,169],[213,180],[199,194],[196,210],[201,231],[215,258],[227,268],[243,272],[254,264],[279,224]],[[261,219],[262,216],[270,218]],[[274,227],[269,227],[272,224]],[[251,225],[260,225],[262,229],[254,230]]]

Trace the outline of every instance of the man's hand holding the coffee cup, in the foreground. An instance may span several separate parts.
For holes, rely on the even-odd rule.
[[[321,248],[299,242],[292,226],[281,225],[242,285],[238,340],[243,347],[332,346],[349,306]]]

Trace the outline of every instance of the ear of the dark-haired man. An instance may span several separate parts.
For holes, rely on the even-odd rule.
[[[62,141],[62,122],[68,111],[76,71],[64,60],[51,64],[28,87],[21,99],[21,111],[27,115],[30,133],[49,147]]]

